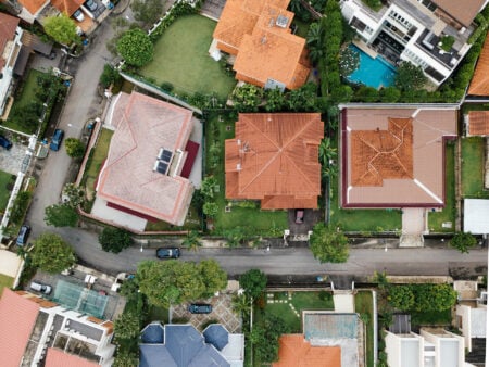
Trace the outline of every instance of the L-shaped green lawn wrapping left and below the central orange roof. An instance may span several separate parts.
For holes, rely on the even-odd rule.
[[[259,204],[253,208],[240,207],[236,203],[230,212],[225,212],[224,140],[235,137],[235,122],[233,114],[215,113],[208,117],[205,125],[205,175],[213,175],[218,182],[216,203],[220,212],[214,219],[215,228],[223,230],[240,226],[251,229],[255,235],[277,236],[288,226],[287,211],[261,211]]]

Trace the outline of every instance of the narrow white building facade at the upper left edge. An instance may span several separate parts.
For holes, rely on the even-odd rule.
[[[13,69],[22,47],[22,28],[17,27],[14,39],[8,40],[5,48],[0,50],[2,52],[1,58],[5,60],[5,65],[0,71],[0,116],[3,114],[7,101],[12,92]]]

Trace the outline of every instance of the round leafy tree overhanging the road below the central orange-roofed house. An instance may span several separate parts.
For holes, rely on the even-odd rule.
[[[310,243],[314,257],[322,263],[346,263],[348,261],[348,238],[342,232],[326,227],[324,223],[314,226]]]

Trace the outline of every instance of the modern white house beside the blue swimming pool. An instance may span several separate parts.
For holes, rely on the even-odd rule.
[[[421,66],[436,86],[456,68],[471,45],[474,18],[488,0],[389,0],[374,11],[344,0],[341,12],[361,40],[397,65]]]

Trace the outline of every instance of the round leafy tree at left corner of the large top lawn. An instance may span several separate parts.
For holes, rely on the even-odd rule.
[[[116,48],[121,58],[136,67],[145,66],[153,59],[153,43],[139,28],[126,30],[118,39]]]

